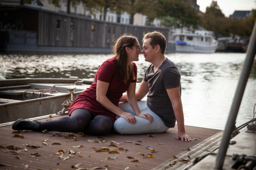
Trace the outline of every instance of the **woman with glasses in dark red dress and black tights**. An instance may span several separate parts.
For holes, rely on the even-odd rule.
[[[133,35],[121,35],[113,46],[115,57],[107,59],[95,74],[90,88],[78,95],[69,107],[69,116],[47,122],[24,119],[13,123],[14,130],[83,132],[88,135],[108,133],[116,116],[135,124],[135,116],[118,108],[119,99],[127,91],[128,101],[138,117],[151,120],[151,115],[141,114],[135,97],[139,42]]]

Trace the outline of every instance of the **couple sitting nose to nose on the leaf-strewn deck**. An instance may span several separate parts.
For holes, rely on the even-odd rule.
[[[157,31],[145,34],[142,51],[136,37],[121,35],[113,46],[115,56],[102,63],[92,86],[69,107],[69,116],[46,122],[19,119],[12,128],[83,132],[95,136],[109,133],[112,127],[121,134],[160,133],[174,127],[177,120],[176,139],[190,142],[184,128],[180,73],[176,65],[164,57],[166,45],[165,37]],[[132,61],[138,61],[140,53],[152,64],[135,92],[137,66]],[[146,95],[147,101],[137,102]],[[119,102],[124,103],[118,107]]]

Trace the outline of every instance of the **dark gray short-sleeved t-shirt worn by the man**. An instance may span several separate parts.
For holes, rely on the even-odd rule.
[[[169,59],[163,61],[162,65],[153,72],[154,65],[147,68],[143,80],[149,85],[147,95],[147,106],[157,114],[167,127],[174,127],[176,118],[172,109],[171,100],[166,89],[180,86],[180,73],[178,67]]]

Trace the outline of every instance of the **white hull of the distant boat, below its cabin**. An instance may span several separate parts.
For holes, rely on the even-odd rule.
[[[214,53],[217,46],[190,46],[175,43],[176,52],[188,53]]]

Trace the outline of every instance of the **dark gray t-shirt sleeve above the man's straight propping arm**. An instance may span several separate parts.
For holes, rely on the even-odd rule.
[[[180,86],[180,73],[177,68],[167,68],[162,77],[162,83],[165,89],[176,88]]]

